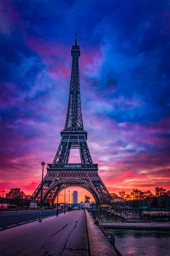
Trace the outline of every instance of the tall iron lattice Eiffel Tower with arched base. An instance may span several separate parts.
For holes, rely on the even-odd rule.
[[[72,68],[66,123],[64,130],[61,131],[61,142],[54,161],[47,164],[47,174],[43,179],[43,202],[53,203],[57,193],[67,187],[81,187],[93,195],[97,205],[101,205],[112,200],[112,197],[98,174],[98,164],[93,163],[86,141],[88,133],[83,127],[80,102],[80,46],[77,45],[76,36],[71,56]],[[68,163],[70,149],[73,148],[79,149],[81,163]],[[41,184],[30,199],[40,202]]]

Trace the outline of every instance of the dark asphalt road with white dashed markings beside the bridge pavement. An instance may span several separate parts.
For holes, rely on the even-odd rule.
[[[58,211],[58,215],[64,211]],[[42,219],[55,216],[55,210],[43,210]],[[7,212],[0,214],[0,231],[39,220],[39,210],[24,212]]]

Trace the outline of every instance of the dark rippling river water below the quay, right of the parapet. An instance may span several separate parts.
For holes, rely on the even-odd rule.
[[[122,256],[170,256],[169,230],[107,230]]]

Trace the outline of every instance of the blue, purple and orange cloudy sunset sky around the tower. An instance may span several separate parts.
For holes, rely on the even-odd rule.
[[[0,196],[32,194],[55,157],[75,32],[83,125],[107,189],[170,189],[170,1],[1,0]]]

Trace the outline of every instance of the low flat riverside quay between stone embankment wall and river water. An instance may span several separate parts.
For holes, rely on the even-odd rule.
[[[170,222],[99,222],[99,226],[109,229],[148,229],[148,230],[168,230],[170,229]]]

